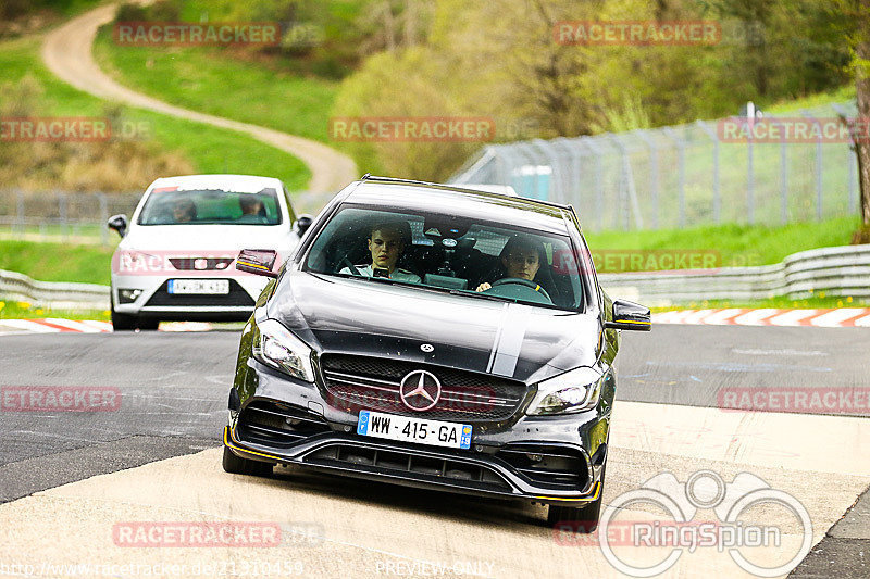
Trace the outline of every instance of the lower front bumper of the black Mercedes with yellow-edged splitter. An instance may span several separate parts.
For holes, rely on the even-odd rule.
[[[328,427],[295,440],[286,438],[269,441],[245,425],[224,430],[224,444],[243,458],[462,494],[579,506],[598,499],[607,452],[601,445],[589,457],[580,446],[527,440],[501,446],[475,443],[476,450],[463,451],[371,439]],[[538,464],[561,461],[575,468],[536,469],[530,456]]]

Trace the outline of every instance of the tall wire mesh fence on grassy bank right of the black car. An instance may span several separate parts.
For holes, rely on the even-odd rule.
[[[765,123],[796,117],[821,127],[842,116],[853,118],[855,104],[766,115]],[[492,144],[450,182],[510,185],[523,197],[572,203],[592,230],[775,225],[857,212],[848,139],[820,131],[799,142],[784,135],[733,142],[722,137],[723,123]]]

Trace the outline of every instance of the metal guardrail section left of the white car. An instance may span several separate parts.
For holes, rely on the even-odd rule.
[[[36,281],[24,274],[0,269],[0,299],[63,310],[108,310],[109,286]]]

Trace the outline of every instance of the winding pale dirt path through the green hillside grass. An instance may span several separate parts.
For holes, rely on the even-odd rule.
[[[122,101],[179,118],[246,133],[299,158],[311,169],[311,192],[334,192],[359,177],[353,161],[330,147],[270,128],[182,109],[119,85],[94,60],[91,47],[97,29],[114,16],[116,4],[87,12],[51,32],[42,46],[49,70],[72,86],[105,100]]]

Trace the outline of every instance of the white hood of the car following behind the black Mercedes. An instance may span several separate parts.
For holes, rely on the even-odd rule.
[[[281,225],[134,225],[119,244],[123,250],[239,251],[275,249],[289,251],[290,226]]]

